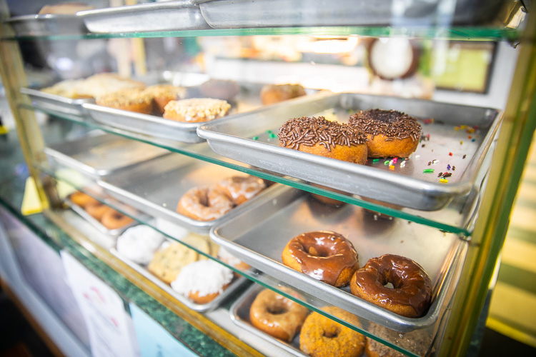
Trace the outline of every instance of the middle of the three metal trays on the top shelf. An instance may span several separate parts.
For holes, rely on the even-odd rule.
[[[210,29],[199,6],[189,0],[79,11],[77,15],[96,33]]]

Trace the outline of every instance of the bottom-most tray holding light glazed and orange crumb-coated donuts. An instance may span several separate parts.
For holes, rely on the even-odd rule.
[[[291,288],[281,289],[290,296],[301,299],[301,293]],[[341,308],[329,306],[322,310],[353,326],[364,328],[364,321]],[[234,301],[229,313],[237,326],[294,356],[402,356],[383,343],[365,337],[316,311],[309,311],[287,296],[257,284],[247,288]],[[432,341],[425,331],[399,333],[377,325],[365,329],[374,336],[419,356],[425,355]],[[378,353],[378,350],[384,353]]]

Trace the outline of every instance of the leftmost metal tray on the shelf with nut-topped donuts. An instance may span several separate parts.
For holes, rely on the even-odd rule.
[[[21,88],[21,93],[29,96],[31,103],[42,109],[48,109],[59,114],[84,116],[82,104],[94,102],[94,99],[72,99],[56,94],[45,93],[39,89]]]

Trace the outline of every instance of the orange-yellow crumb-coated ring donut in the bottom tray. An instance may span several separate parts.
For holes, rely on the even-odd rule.
[[[327,306],[322,310],[353,326],[361,326],[357,316],[342,308]],[[307,316],[299,334],[299,349],[313,357],[358,357],[363,354],[364,346],[365,338],[361,333],[317,312]]]

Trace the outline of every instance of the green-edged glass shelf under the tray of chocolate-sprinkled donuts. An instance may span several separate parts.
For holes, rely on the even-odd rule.
[[[244,172],[246,174],[251,174],[260,178],[267,179],[269,181],[283,183],[284,185],[299,188],[300,190],[308,191],[311,193],[318,193],[322,196],[334,198],[336,200],[360,206],[362,208],[382,213],[387,216],[402,218],[407,221],[412,221],[415,223],[424,224],[426,226],[435,227],[442,231],[460,234],[461,236],[470,236],[472,233],[471,228],[472,222],[475,218],[475,207],[479,203],[480,186],[475,187],[467,197],[462,196],[454,198],[445,208],[442,208],[442,210],[440,211],[427,212],[412,210],[410,208],[395,209],[390,208],[388,206],[383,206],[381,203],[363,201],[362,198],[360,198],[359,196],[329,191],[324,188],[312,186],[311,184],[299,180],[297,178],[283,176],[272,171],[265,171],[262,169],[254,168],[249,165],[242,164],[239,161],[228,159],[224,156],[215,154],[214,151],[209,148],[206,142],[199,144],[182,144],[173,141],[167,141],[164,139],[157,139],[150,136],[144,136],[142,134],[136,134],[129,131],[115,129],[110,126],[98,124],[92,121],[91,118],[82,121],[78,116],[69,116],[66,114],[59,115],[54,112],[47,111],[45,109],[34,108],[32,106],[27,106],[24,104],[21,104],[20,106],[23,109],[31,111],[41,111],[46,114],[56,116],[60,119],[64,119],[66,121],[71,121],[73,123],[89,127],[91,129],[100,129],[108,134],[114,134],[117,136],[124,137],[126,139],[133,139],[145,144],[159,146],[160,148],[167,149],[175,153],[184,154],[186,156],[190,156],[195,159],[200,159],[202,161],[207,161],[212,164],[226,166],[229,169],[234,169],[236,171]],[[485,168],[489,166],[490,161],[491,151],[490,153],[488,153],[485,159],[485,164],[482,165],[483,169],[480,171],[479,178],[477,179],[477,181],[480,180],[480,182],[483,182],[483,178],[487,173],[487,169]]]

